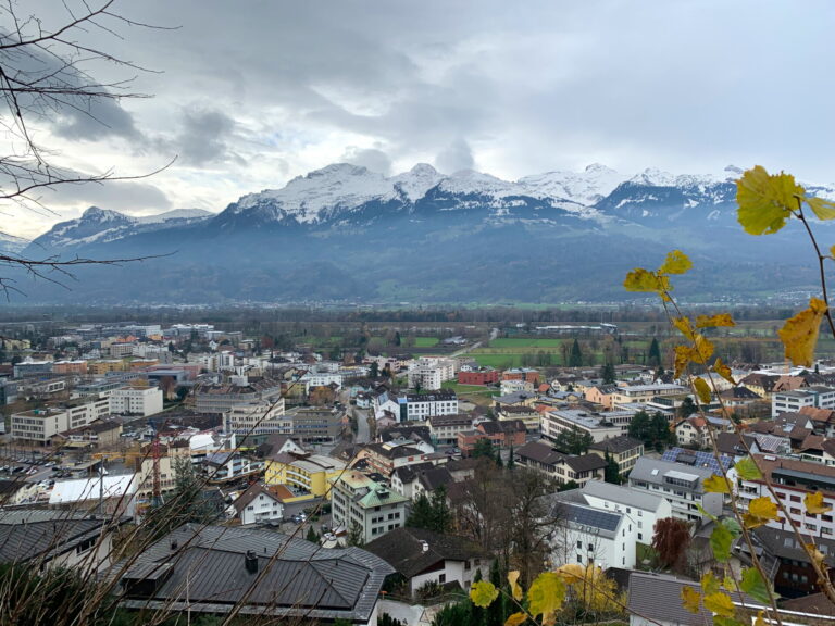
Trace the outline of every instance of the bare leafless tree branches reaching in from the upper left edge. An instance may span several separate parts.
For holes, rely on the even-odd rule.
[[[95,32],[121,38],[120,27],[160,28],[120,15],[115,3],[116,0],[55,2],[55,12],[46,20],[27,13],[25,3],[0,2],[0,129],[4,138],[0,149],[0,206],[13,202],[34,212],[51,213],[39,196],[45,189],[145,178],[171,164],[135,176],[116,176],[112,167],[103,173],[79,172],[61,165],[60,154],[39,140],[40,123],[75,116],[107,126],[99,115],[104,107],[117,107],[125,98],[148,97],[133,91],[130,86],[137,73],[150,70],[85,42]],[[88,68],[102,62],[123,70],[126,76],[98,79]],[[60,281],[61,277],[71,276],[73,265],[119,264],[129,260],[133,259],[32,259],[5,253],[0,254],[0,266],[24,268],[37,277]],[[48,276],[55,272],[59,280]],[[7,293],[15,290],[13,280],[0,278],[0,289]]]

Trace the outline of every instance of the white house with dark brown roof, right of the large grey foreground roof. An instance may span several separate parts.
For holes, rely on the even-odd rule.
[[[427,583],[470,589],[476,572],[486,579],[490,568],[489,556],[466,539],[423,528],[396,528],[364,549],[391,565],[412,597]]]

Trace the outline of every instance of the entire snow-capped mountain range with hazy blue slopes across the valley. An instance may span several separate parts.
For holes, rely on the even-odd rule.
[[[811,270],[789,271],[786,261],[805,258],[802,238],[747,237],[736,223],[740,174],[728,166],[633,175],[594,164],[503,180],[426,164],[387,177],[338,163],[219,214],[134,217],[91,208],[24,253],[145,259],[119,271],[84,267],[70,293],[37,286],[43,298],[85,302],[124,298],[128,284],[137,301],[167,303],[619,299],[625,271],[652,266],[673,247],[705,268],[701,283],[685,279],[703,293],[722,280],[734,293],[763,289],[775,259],[802,287]],[[807,188],[835,198],[835,186]]]

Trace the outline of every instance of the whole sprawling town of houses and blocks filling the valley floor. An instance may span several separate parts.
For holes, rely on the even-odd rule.
[[[670,613],[682,586],[725,572],[718,473],[740,514],[773,485],[792,519],[750,530],[756,559],[786,615],[823,611],[792,524],[834,563],[832,515],[799,504],[835,503],[826,361],[739,361],[698,411],[655,338],[640,364],[583,364],[576,337],[588,350],[615,324],[363,325],[356,352],[209,323],[12,328],[0,561],[99,573],[120,611],[461,623],[474,583],[576,563],[624,599],[577,615],[690,623]],[[553,354],[479,363],[511,333]],[[749,451],[767,477],[735,473]],[[751,559],[737,538],[730,567]]]

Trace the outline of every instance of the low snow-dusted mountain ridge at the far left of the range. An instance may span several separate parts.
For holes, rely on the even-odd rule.
[[[35,249],[65,249],[96,242],[115,241],[139,233],[150,233],[205,221],[213,214],[201,209],[176,209],[158,215],[134,217],[116,211],[90,206],[77,220],[61,222],[32,242]]]

